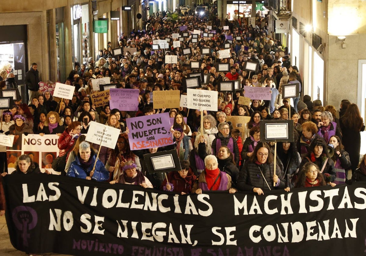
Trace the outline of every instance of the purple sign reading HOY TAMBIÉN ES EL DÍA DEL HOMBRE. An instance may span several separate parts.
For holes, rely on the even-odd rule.
[[[111,109],[137,111],[139,92],[138,89],[109,89],[109,106]]]

